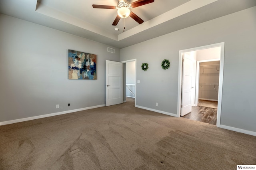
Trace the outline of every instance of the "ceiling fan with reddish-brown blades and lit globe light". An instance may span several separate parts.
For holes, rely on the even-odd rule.
[[[134,14],[132,11],[130,11],[131,8],[136,8],[138,6],[146,5],[149,3],[154,2],[154,0],[137,0],[135,2],[130,3],[127,0],[118,0],[117,6],[109,6],[109,5],[92,5],[93,8],[103,8],[103,9],[118,9],[117,10],[117,16],[114,20],[112,26],[116,26],[121,18],[127,18],[130,16],[132,19],[134,19],[139,24],[142,24],[144,21],[138,17],[136,14]]]

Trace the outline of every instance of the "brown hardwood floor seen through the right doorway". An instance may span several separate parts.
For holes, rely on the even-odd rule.
[[[193,106],[192,111],[183,117],[194,121],[216,125],[217,109],[211,107]]]

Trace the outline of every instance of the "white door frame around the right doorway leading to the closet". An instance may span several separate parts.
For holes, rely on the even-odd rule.
[[[218,92],[218,110],[217,110],[217,127],[220,127],[221,117],[221,104],[222,104],[222,86],[223,86],[223,71],[224,71],[224,48],[225,42],[205,45],[201,47],[194,47],[190,49],[184,49],[179,51],[179,68],[178,68],[178,106],[177,106],[177,117],[180,117],[181,112],[181,89],[182,89],[182,53],[197,51],[200,49],[208,49],[213,47],[220,47],[220,77],[219,77],[219,92]]]

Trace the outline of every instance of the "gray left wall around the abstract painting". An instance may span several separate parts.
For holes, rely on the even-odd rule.
[[[120,49],[2,14],[0,30],[0,122],[106,103],[105,60]],[[68,49],[97,55],[97,80],[68,79]]]

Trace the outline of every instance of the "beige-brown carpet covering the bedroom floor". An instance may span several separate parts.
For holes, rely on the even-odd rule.
[[[0,127],[1,170],[235,170],[256,136],[121,105]]]

